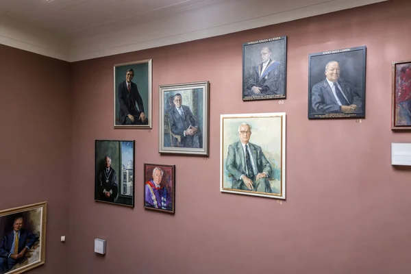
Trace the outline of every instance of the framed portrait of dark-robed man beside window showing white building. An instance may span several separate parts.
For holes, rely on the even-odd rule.
[[[134,207],[134,140],[96,140],[95,201]]]

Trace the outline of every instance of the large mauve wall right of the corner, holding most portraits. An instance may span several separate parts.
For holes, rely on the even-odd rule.
[[[410,170],[390,164],[391,62],[411,3],[73,64],[72,273],[410,273]],[[187,22],[189,23],[189,22]],[[243,102],[242,43],[288,36],[287,99]],[[366,45],[366,119],[308,121],[308,55]],[[153,129],[113,129],[113,65],[153,59]],[[158,153],[158,85],[210,81],[210,157]],[[220,114],[286,112],[287,200],[219,191]],[[95,140],[136,140],[134,209],[93,201]],[[252,140],[251,140],[252,141]],[[144,210],[143,163],[176,164],[175,215]],[[107,253],[93,253],[94,238]]]

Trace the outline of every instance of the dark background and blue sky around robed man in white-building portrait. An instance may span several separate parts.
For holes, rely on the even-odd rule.
[[[99,172],[104,168],[105,155],[109,155],[112,159],[112,169],[116,171],[119,179],[119,192],[114,200],[114,203],[121,203],[127,206],[133,205],[134,195],[122,195],[121,188],[123,187],[123,166],[127,168],[129,160],[133,163],[134,173],[134,142],[133,141],[117,141],[117,140],[96,140],[95,151],[95,198],[97,196],[97,184],[99,183]],[[133,178],[134,182],[134,178]],[[134,184],[133,190],[134,193]]]

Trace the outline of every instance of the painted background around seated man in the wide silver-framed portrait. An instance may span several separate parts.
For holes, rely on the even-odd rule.
[[[185,90],[169,90],[164,91],[163,102],[164,102],[164,147],[171,147],[170,141],[170,128],[169,128],[169,112],[174,108],[173,96],[175,94],[182,95],[182,105],[188,105],[192,114],[197,119],[199,123],[199,129],[204,138],[204,119],[203,119],[203,88],[185,89]],[[203,145],[204,147],[204,145]]]

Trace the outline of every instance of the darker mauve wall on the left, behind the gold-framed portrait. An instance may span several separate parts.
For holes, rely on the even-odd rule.
[[[47,201],[46,264],[30,273],[65,273],[69,249],[71,65],[0,45],[0,208]]]

